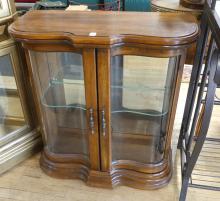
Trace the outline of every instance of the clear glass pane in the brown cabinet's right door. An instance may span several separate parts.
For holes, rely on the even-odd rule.
[[[112,57],[113,161],[163,158],[174,67],[175,58]]]

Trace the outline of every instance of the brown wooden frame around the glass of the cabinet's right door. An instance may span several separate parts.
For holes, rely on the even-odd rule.
[[[142,164],[131,160],[112,161],[112,134],[111,134],[111,56],[117,55],[135,55],[146,57],[177,57],[177,64],[179,68],[174,72],[174,88],[171,91],[172,104],[169,106],[169,116],[166,126],[166,146],[163,161],[157,164]],[[172,137],[172,129],[175,118],[175,109],[178,101],[178,92],[180,89],[180,81],[182,70],[186,55],[186,46],[174,47],[155,47],[143,46],[138,47],[135,45],[122,45],[113,48],[100,48],[97,54],[97,69],[98,69],[98,98],[99,98],[99,129],[100,129],[100,154],[101,154],[101,170],[111,172],[112,169],[133,169],[145,173],[159,172],[165,169],[169,163],[170,155],[170,141]],[[180,57],[180,58],[179,58]],[[103,135],[102,128],[102,111],[105,111],[105,136]]]

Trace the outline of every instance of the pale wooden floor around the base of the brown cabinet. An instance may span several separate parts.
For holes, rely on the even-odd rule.
[[[120,186],[109,190],[88,187],[79,180],[54,179],[42,172],[38,162],[40,154],[37,154],[0,176],[0,201],[177,201],[181,178],[176,142],[187,86],[187,83],[182,83],[181,86],[173,137],[174,173],[166,187],[147,191]],[[214,114],[212,131],[220,129],[217,114],[220,111]],[[187,195],[187,201],[219,200],[220,192],[217,191],[189,188]]]

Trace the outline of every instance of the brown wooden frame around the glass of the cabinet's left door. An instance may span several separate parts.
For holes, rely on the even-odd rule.
[[[86,158],[82,154],[69,154],[65,157],[65,154],[54,154],[50,153],[49,150],[44,150],[43,158],[47,157],[49,160],[54,160],[58,162],[60,160],[69,162],[75,161],[76,163],[84,164],[87,168],[92,170],[100,170],[100,159],[99,159],[99,135],[98,135],[98,115],[97,115],[97,91],[96,91],[96,62],[95,62],[95,49],[94,48],[75,48],[70,44],[65,43],[65,41],[36,41],[35,43],[28,41],[23,42],[23,47],[25,48],[26,60],[28,63],[28,71],[30,75],[30,82],[32,86],[32,91],[35,96],[35,106],[37,108],[37,115],[39,123],[41,125],[41,130],[43,128],[43,122],[40,120],[44,113],[40,107],[40,99],[37,90],[36,83],[33,77],[33,69],[31,66],[31,59],[29,51],[38,52],[69,52],[69,53],[80,53],[83,58],[83,72],[84,72],[84,84],[85,84],[85,98],[86,98],[86,108],[87,108],[87,125],[90,125],[90,113],[89,109],[93,109],[93,121],[94,121],[94,133],[92,133],[91,128],[88,128],[88,145],[89,145],[89,161],[85,161]],[[42,132],[43,133],[43,132]],[[46,143],[46,135],[43,134],[44,144]],[[46,160],[46,159],[45,159]],[[47,171],[44,168],[45,171]],[[68,173],[67,173],[68,174]]]

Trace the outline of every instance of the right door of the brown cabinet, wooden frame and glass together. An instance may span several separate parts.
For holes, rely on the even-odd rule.
[[[169,157],[166,145],[169,147],[170,119],[175,114],[179,63],[180,56],[160,50],[154,55],[144,48],[99,50],[102,170],[125,168],[152,173],[168,163],[163,159]]]

